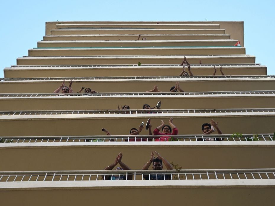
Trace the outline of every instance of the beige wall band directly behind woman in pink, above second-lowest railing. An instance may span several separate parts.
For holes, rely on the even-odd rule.
[[[116,105],[115,105],[116,106]],[[230,116],[231,115],[231,116]],[[90,114],[90,115],[20,115],[1,116],[1,136],[76,136],[104,135],[106,128],[112,135],[127,135],[133,127],[151,118],[152,128],[174,118],[179,134],[201,134],[201,125],[211,119],[219,121],[224,134],[274,133],[274,113],[196,113],[194,114]],[[16,128],[16,129],[15,129]],[[143,131],[141,134],[148,134]]]

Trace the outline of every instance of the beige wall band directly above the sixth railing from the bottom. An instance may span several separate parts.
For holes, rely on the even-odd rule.
[[[106,64],[180,64],[184,56],[73,56],[73,57],[23,57],[17,58],[17,65],[106,65]],[[188,56],[190,64],[255,64],[255,56]]]

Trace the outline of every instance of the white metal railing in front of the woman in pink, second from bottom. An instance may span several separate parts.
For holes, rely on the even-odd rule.
[[[167,142],[208,142],[208,141],[274,141],[274,134],[193,134],[165,135],[171,137]],[[41,142],[145,142],[154,141],[163,135],[96,135],[96,136],[31,136],[0,137],[0,143],[41,143]]]

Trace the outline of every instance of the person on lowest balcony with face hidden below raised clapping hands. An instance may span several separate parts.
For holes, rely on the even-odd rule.
[[[103,170],[112,170],[117,164],[119,164],[121,167],[117,167],[115,170],[131,170],[130,167],[125,165],[122,161],[122,153],[119,153],[117,155],[117,158],[115,159],[114,163],[110,164],[109,166],[105,167]],[[126,180],[126,175],[102,175],[103,180]],[[128,175],[127,180],[132,180],[133,176]]]

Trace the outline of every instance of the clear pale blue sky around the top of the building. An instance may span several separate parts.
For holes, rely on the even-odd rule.
[[[16,65],[45,35],[48,21],[244,21],[246,54],[275,75],[275,3],[263,1],[2,1],[3,69]]]

